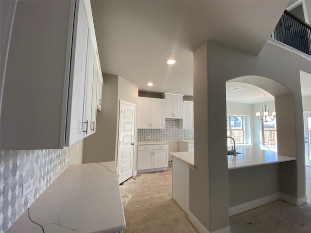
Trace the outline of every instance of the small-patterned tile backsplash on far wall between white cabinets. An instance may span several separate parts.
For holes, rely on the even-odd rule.
[[[179,129],[178,119],[165,119],[164,129],[138,129],[137,141],[174,141],[194,139],[193,129]]]

